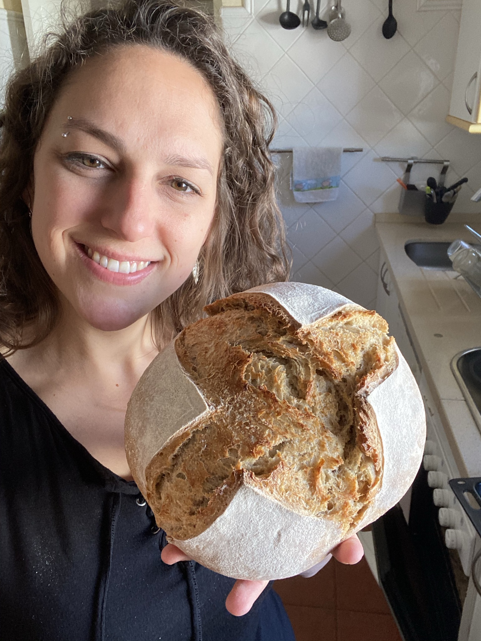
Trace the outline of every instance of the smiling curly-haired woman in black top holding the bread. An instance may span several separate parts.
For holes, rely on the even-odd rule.
[[[174,333],[208,301],[287,278],[269,117],[210,19],[155,0],[74,21],[10,81],[1,638],[292,640],[266,582],[166,545],[123,441]]]

